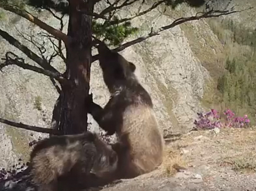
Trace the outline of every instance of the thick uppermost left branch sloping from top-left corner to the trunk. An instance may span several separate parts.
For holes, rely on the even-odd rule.
[[[55,28],[47,25],[37,17],[34,17],[31,13],[27,12],[26,10],[19,9],[17,6],[10,5],[9,3],[3,3],[0,4],[0,6],[6,11],[13,12],[15,14],[18,14],[20,17],[23,17],[31,21],[31,23],[34,23],[43,30],[54,35],[56,38],[61,39],[67,45],[68,37],[66,34],[62,33],[60,30],[56,30]]]

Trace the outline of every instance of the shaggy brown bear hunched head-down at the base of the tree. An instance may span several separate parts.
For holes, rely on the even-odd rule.
[[[73,190],[87,185],[93,171],[97,177],[117,167],[117,153],[97,134],[52,136],[31,152],[32,181],[39,191]]]

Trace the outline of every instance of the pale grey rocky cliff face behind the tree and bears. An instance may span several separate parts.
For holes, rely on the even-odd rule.
[[[103,6],[98,5],[97,9]],[[127,16],[136,12],[137,8],[138,6],[134,5],[129,10],[120,11],[119,14]],[[1,29],[40,54],[37,48],[22,37],[26,34],[38,36],[40,28],[18,16],[2,12],[4,17],[1,18]],[[127,41],[147,34],[152,26],[159,28],[170,24],[176,18],[195,13],[195,9],[188,8],[184,4],[178,6],[175,11],[163,12],[162,8],[155,9],[133,20],[132,24],[139,27],[140,31]],[[49,16],[47,12],[41,12],[38,17],[53,27],[59,27],[59,21]],[[67,18],[65,18],[65,32],[66,21]],[[1,58],[7,51],[11,51],[24,57],[27,63],[37,65],[3,38],[0,38],[0,47]],[[51,43],[46,41],[45,48],[47,51],[44,55],[50,55]],[[172,30],[162,32],[161,35],[126,48],[120,54],[136,64],[138,79],[152,96],[159,125],[165,134],[169,134],[186,132],[193,127],[196,112],[203,109],[201,99],[205,84],[212,80],[209,69],[215,66],[220,52],[222,52],[221,42],[208,23],[200,20],[176,26]],[[58,57],[54,58],[53,66],[61,72],[65,70],[62,60]],[[47,77],[16,66],[9,66],[0,74],[0,84],[1,117],[35,126],[50,126],[58,93]],[[103,83],[98,62],[93,63],[91,67],[90,85],[95,102],[104,106],[109,94]],[[99,131],[91,116],[89,122],[91,122],[90,130]],[[47,135],[11,128],[0,123],[0,144],[5,145],[0,148],[0,166],[10,166],[19,157],[26,160],[29,153],[28,142],[39,136]]]

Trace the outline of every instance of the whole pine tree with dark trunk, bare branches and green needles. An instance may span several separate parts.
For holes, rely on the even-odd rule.
[[[94,11],[95,6],[97,6],[97,3],[102,3],[103,1],[106,3],[106,8],[100,13],[96,13]],[[92,62],[97,60],[97,55],[91,56],[93,35],[109,46],[115,46],[116,48],[114,50],[120,51],[186,21],[217,17],[236,12],[230,10],[210,10],[197,14],[196,16],[179,18],[170,25],[163,26],[158,30],[152,30],[147,35],[142,36],[143,38],[134,39],[133,41],[122,44],[125,38],[139,30],[131,25],[133,18],[142,16],[158,6],[165,6],[166,9],[175,9],[176,6],[181,3],[187,3],[189,6],[196,7],[202,6],[205,3],[204,0],[158,0],[152,3],[150,8],[140,11],[132,17],[119,18],[116,14],[116,11],[121,8],[129,9],[129,7],[135,3],[140,3],[141,6],[143,6],[145,2],[145,0],[1,0],[0,8],[31,21],[31,23],[39,26],[42,31],[45,31],[49,38],[53,37],[57,39],[58,43],[55,45],[56,54],[53,54],[47,60],[25,47],[0,27],[0,35],[2,38],[21,50],[41,67],[38,68],[25,64],[22,58],[17,57],[14,53],[8,52],[6,53],[5,62],[1,64],[0,69],[6,65],[16,64],[24,69],[44,74],[48,76],[53,83],[55,83],[55,80],[60,83],[60,87],[56,85],[60,96],[53,110],[52,131],[40,127],[33,129],[33,127],[26,126],[25,124],[20,126],[19,123],[4,119],[0,121],[15,127],[33,129],[45,133],[81,133],[87,130],[87,108],[83,103],[89,93],[90,66]],[[26,9],[27,6],[33,6],[38,11],[42,9],[47,10],[55,18],[59,19],[60,23],[62,18],[68,15],[69,23],[67,34],[62,32],[63,23],[61,23],[60,29],[53,28],[28,12]],[[57,13],[61,16],[58,16]],[[99,20],[103,20],[103,22]],[[62,53],[63,46],[66,49],[66,56]],[[61,74],[50,65],[54,56],[60,56],[65,62],[66,71],[64,74]]]

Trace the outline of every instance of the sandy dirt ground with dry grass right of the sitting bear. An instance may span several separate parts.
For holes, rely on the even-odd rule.
[[[102,191],[256,190],[256,129],[191,131],[166,139],[159,168]]]

